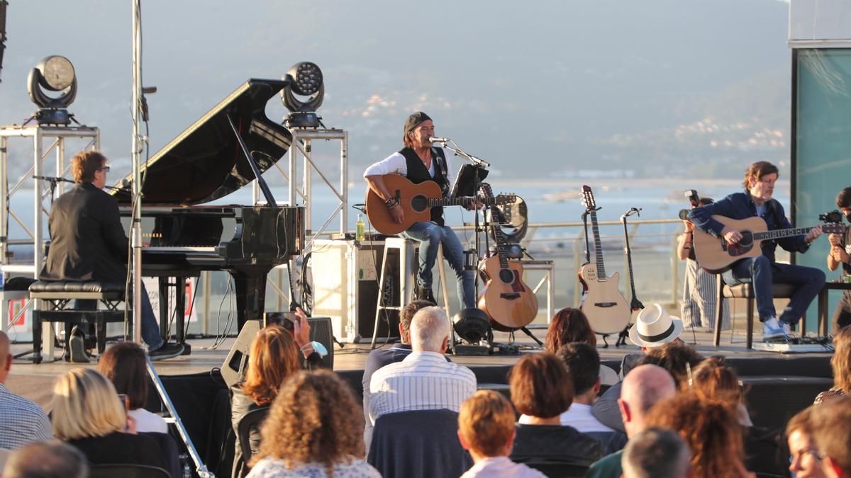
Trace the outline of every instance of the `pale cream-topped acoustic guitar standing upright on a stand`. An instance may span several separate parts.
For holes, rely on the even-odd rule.
[[[590,187],[582,186],[582,197],[591,216],[595,262],[580,267],[580,281],[585,287],[580,310],[588,317],[594,332],[601,335],[620,333],[630,324],[630,304],[627,304],[624,294],[620,293],[618,288],[620,274],[615,272],[606,276],[606,268],[603,266],[603,243],[600,241],[600,230],[597,226],[597,205]]]

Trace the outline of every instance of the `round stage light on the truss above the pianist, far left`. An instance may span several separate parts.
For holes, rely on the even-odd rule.
[[[73,115],[66,109],[77,97],[74,65],[64,56],[53,55],[38,62],[27,78],[30,100],[39,110],[33,114],[38,124],[70,124]],[[50,97],[46,91],[60,92]]]

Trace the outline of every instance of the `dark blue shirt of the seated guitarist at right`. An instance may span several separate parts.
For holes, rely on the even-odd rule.
[[[724,225],[712,219],[714,215],[725,216],[730,219],[760,217],[768,225],[768,230],[791,229],[792,225],[789,223],[789,219],[786,219],[783,206],[780,202],[772,199],[770,202],[766,202],[765,205],[767,206],[765,212],[762,215],[757,215],[757,204],[753,202],[751,195],[745,192],[736,192],[720,201],[692,209],[688,213],[688,219],[698,229],[716,237],[721,237],[721,230],[724,229]],[[771,262],[774,262],[774,250],[778,244],[780,244],[781,248],[791,253],[807,252],[809,246],[803,239],[804,236],[791,236],[778,240],[762,241],[762,255],[767,257]]]

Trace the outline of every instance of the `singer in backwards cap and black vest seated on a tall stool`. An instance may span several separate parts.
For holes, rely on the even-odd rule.
[[[434,147],[434,122],[422,111],[417,111],[405,121],[403,130],[403,149],[380,162],[374,163],[363,173],[369,188],[385,201],[391,216],[397,223],[404,220],[403,209],[385,184],[384,174],[401,174],[414,184],[434,181],[447,196],[455,180],[449,155],[443,148]],[[476,205],[471,204],[469,208]],[[458,297],[462,307],[476,306],[474,291],[475,274],[465,270],[464,248],[458,236],[444,224],[443,208],[431,208],[431,220],[414,223],[402,233],[404,236],[420,242],[420,268],[417,273],[417,299],[437,303],[431,292],[431,270],[437,260],[437,247],[443,244],[443,256],[454,270],[458,279]]]

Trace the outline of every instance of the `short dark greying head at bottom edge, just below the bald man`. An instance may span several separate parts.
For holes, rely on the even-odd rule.
[[[632,436],[622,459],[624,478],[690,478],[691,450],[671,430],[651,428]]]

